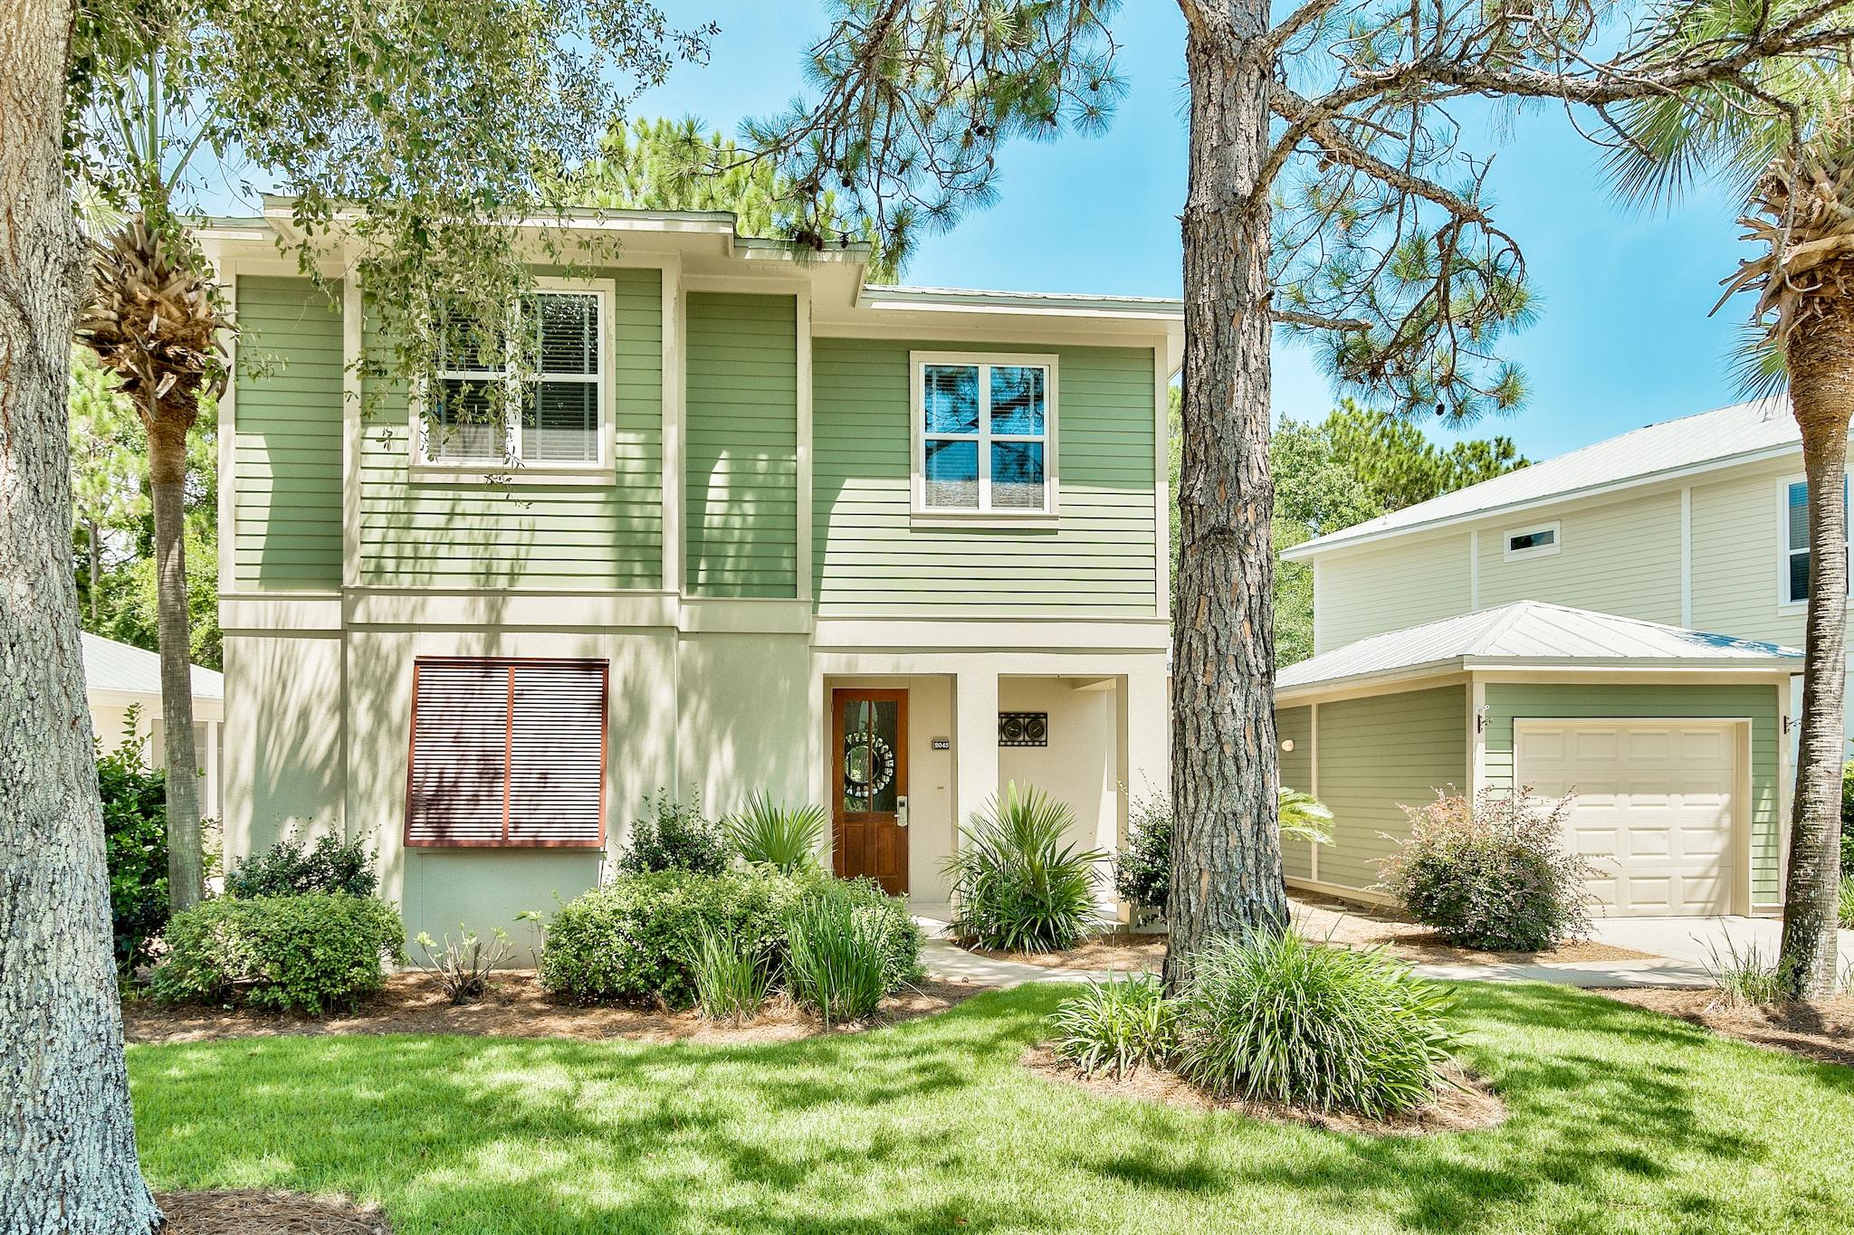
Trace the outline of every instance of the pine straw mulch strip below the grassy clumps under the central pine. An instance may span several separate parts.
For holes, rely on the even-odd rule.
[[[1083,1076],[1073,1065],[1057,1057],[1048,1046],[1035,1046],[1023,1054],[1022,1065],[1036,1076],[1059,1085],[1075,1085],[1103,1098],[1129,1098],[1135,1102],[1157,1102],[1161,1105],[1187,1111],[1235,1111],[1248,1118],[1270,1124],[1305,1124],[1326,1131],[1355,1131],[1372,1137],[1422,1137],[1437,1131],[1476,1131],[1496,1128],[1505,1122],[1505,1102],[1500,1100],[1483,1079],[1459,1065],[1442,1070],[1446,1085],[1435,1102],[1398,1115],[1389,1120],[1374,1120],[1344,1111],[1316,1111],[1313,1107],[1294,1107],[1279,1102],[1244,1102],[1242,1098],[1213,1098],[1175,1072],[1161,1068],[1135,1068],[1124,1079],[1111,1072]]]

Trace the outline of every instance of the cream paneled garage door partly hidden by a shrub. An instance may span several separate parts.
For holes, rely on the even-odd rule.
[[[1609,917],[1732,911],[1737,730],[1678,722],[1518,722],[1513,776],[1576,791],[1570,842],[1602,872]]]

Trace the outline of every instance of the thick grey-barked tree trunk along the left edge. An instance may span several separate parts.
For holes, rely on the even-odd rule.
[[[70,22],[0,9],[0,1233],[146,1235],[70,572]]]

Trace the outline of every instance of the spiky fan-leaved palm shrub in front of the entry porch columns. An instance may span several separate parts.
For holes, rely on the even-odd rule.
[[[981,948],[1060,952],[1094,924],[1094,863],[1105,854],[1062,841],[1073,811],[1040,789],[1005,785],[960,828],[947,859],[953,931]]]

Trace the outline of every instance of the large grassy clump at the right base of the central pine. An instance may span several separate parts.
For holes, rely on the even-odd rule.
[[[1450,996],[1381,952],[1292,928],[1213,941],[1179,998],[1179,1076],[1227,1098],[1383,1118],[1442,1083]]]

